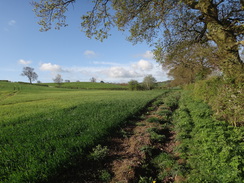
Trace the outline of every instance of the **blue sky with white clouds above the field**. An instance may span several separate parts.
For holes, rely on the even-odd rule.
[[[68,26],[40,32],[39,19],[31,0],[0,0],[0,80],[28,82],[23,67],[32,67],[42,83],[53,82],[57,74],[71,82],[141,82],[149,74],[157,81],[168,80],[166,71],[153,59],[146,43],[133,45],[126,33],[111,30],[100,42],[81,32],[82,12],[89,1],[77,1],[67,15]]]

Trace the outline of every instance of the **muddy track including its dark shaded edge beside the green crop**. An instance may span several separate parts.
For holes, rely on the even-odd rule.
[[[167,119],[159,116],[160,110],[165,109],[164,105],[154,107],[154,110],[145,112],[137,119],[129,121],[126,126],[114,132],[102,143],[109,152],[101,161],[77,160],[77,165],[63,171],[48,182],[59,183],[137,183],[140,177],[156,177],[156,169],[145,172],[143,166],[152,156],[166,152],[172,154],[174,133],[164,128]],[[153,122],[150,118],[158,119]],[[151,130],[150,130],[151,129]],[[152,139],[152,129],[161,134],[163,140]],[[161,137],[160,135],[158,135]],[[105,172],[105,173],[104,173]],[[106,177],[107,176],[107,177]],[[160,182],[174,182],[175,177],[168,176]],[[157,181],[158,182],[158,181]]]

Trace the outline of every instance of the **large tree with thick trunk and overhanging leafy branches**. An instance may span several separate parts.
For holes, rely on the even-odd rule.
[[[65,13],[75,0],[33,2],[41,30],[67,26]],[[213,41],[221,55],[219,65],[227,77],[243,73],[238,49],[244,45],[244,3],[242,0],[94,0],[93,9],[82,16],[88,37],[103,40],[109,30],[129,29],[133,43],[158,41],[167,53],[182,41]],[[113,10],[111,10],[113,9]],[[161,38],[161,39],[158,39]],[[156,39],[156,40],[155,40]],[[162,54],[163,56],[163,54]]]

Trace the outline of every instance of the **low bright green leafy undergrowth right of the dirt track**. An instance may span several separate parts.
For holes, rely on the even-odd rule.
[[[212,117],[207,104],[184,92],[175,115],[178,153],[190,169],[187,182],[243,182],[243,127]]]

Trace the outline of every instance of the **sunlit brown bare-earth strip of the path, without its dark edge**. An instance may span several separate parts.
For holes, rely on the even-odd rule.
[[[111,183],[138,182],[139,177],[143,175],[143,164],[152,156],[152,149],[157,151],[157,154],[173,152],[174,133],[162,127],[162,122],[166,119],[157,115],[162,107],[164,105],[147,113],[144,116],[145,119],[134,121],[125,127],[123,129],[125,138],[115,137],[109,141],[109,159],[112,161],[108,167],[113,173]],[[153,130],[160,132],[161,136],[156,134],[158,137],[152,139]],[[164,138],[160,139],[160,137]],[[168,177],[166,182],[172,182],[173,179],[173,177]]]

